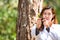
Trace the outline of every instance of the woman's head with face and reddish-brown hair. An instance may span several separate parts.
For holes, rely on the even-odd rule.
[[[42,17],[47,21],[53,21],[54,24],[58,24],[55,9],[52,7],[43,8],[41,11],[40,17]]]

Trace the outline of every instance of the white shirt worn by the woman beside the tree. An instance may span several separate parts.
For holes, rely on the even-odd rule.
[[[38,35],[35,35],[36,25],[31,28],[31,36],[35,37],[35,40],[60,40],[60,25],[52,24],[50,32],[48,33],[44,27],[43,31],[40,31]]]

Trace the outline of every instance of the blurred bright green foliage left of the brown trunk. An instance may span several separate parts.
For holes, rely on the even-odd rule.
[[[0,0],[0,40],[16,40],[17,0]]]

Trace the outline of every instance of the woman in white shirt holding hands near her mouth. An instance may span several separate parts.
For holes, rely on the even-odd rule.
[[[60,25],[57,24],[54,9],[45,7],[40,16],[37,24],[31,28],[32,40],[60,40]]]

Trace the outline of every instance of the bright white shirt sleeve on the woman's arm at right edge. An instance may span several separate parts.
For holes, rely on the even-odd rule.
[[[60,25],[53,25],[50,28],[50,33],[53,35],[55,40],[60,40]]]

